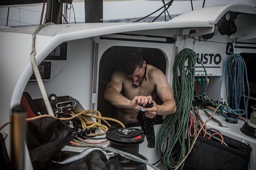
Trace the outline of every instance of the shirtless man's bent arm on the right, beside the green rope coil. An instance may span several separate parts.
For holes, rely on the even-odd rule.
[[[156,92],[159,98],[163,101],[162,105],[157,105],[153,101],[153,107],[147,108],[145,113],[147,117],[153,118],[155,115],[170,115],[176,112],[176,103],[173,97],[172,89],[167,81],[164,73],[159,70],[152,70],[152,76],[155,80]]]

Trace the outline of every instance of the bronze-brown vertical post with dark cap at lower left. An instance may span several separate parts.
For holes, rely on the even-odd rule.
[[[11,169],[24,169],[24,147],[25,147],[25,119],[24,107],[15,106],[12,109],[11,126]]]

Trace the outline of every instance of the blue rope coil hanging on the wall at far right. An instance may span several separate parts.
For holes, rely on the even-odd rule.
[[[244,72],[245,72],[245,78],[248,88],[248,97],[245,101],[245,92],[244,92]],[[218,104],[220,104],[220,94],[221,94],[221,88],[223,83],[223,78],[225,77],[225,83],[226,83],[226,94],[227,94],[227,102],[228,106],[233,109],[227,109],[224,105],[221,105],[222,113],[220,113],[223,117],[225,117],[228,120],[231,121],[238,121],[238,119],[230,118],[224,112],[232,113],[235,115],[244,115],[247,118],[247,107],[248,107],[248,100],[249,100],[249,94],[250,94],[250,88],[247,78],[247,69],[246,64],[244,62],[244,59],[239,54],[232,54],[228,57],[227,61],[225,62],[222,77],[221,77],[221,83],[220,83],[220,92],[218,97]],[[241,101],[241,95],[243,94],[243,100],[244,100],[244,110],[239,108],[240,101]]]

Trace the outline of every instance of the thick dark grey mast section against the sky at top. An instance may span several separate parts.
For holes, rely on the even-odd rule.
[[[84,0],[85,23],[103,22],[103,0]]]

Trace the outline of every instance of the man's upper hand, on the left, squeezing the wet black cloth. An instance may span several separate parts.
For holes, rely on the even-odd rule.
[[[152,102],[151,96],[135,96],[129,104],[129,107],[135,110],[140,110],[140,105],[146,106],[147,103]]]

